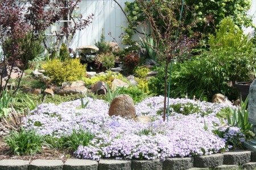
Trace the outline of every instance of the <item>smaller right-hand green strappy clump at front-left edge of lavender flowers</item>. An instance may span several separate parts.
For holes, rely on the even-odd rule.
[[[80,126],[79,131],[73,129],[72,134],[65,139],[65,147],[76,151],[80,145],[88,146],[90,140],[94,137],[94,134],[89,131],[84,131]]]

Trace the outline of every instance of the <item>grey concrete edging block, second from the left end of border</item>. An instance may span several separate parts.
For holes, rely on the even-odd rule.
[[[62,170],[63,169],[63,162],[61,160],[42,160],[36,159],[33,160],[32,163],[28,166],[29,170]]]

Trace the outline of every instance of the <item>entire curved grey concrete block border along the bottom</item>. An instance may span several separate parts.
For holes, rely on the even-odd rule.
[[[0,170],[182,170],[182,169],[256,169],[256,152],[236,150],[207,156],[161,160],[0,160]]]

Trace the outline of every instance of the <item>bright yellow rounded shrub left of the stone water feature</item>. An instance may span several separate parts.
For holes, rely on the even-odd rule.
[[[79,59],[66,60],[64,62],[55,59],[42,65],[42,68],[59,85],[64,81],[80,80],[86,72],[86,65],[82,65]]]

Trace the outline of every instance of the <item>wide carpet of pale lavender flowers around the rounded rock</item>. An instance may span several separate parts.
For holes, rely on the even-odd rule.
[[[88,99],[89,104],[85,109],[81,109],[80,99],[57,106],[42,104],[32,111],[34,115],[23,120],[23,127],[27,130],[34,128],[40,135],[60,138],[82,126],[96,136],[88,146],[80,146],[74,152],[76,157],[83,159],[115,157],[164,160],[167,157],[209,155],[226,149],[226,139],[221,139],[212,132],[221,124],[216,114],[226,107],[224,105],[190,99],[170,99],[170,105],[183,105],[179,109],[181,112],[186,106],[192,105],[192,113],[183,115],[170,108],[169,120],[163,122],[164,98],[150,97],[135,107],[137,116],[147,115],[151,122],[138,123],[132,119],[110,117],[108,103]]]

